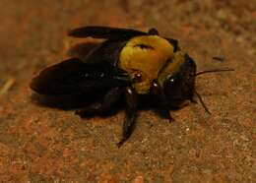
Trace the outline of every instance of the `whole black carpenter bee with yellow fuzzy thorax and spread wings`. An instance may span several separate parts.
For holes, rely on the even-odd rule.
[[[73,37],[104,39],[83,60],[71,58],[50,66],[32,79],[31,89],[45,95],[73,93],[91,94],[104,91],[100,102],[77,110],[85,117],[111,109],[120,98],[126,101],[126,116],[120,147],[133,132],[138,99],[149,95],[156,100],[164,115],[172,121],[170,107],[182,106],[194,95],[207,112],[201,96],[195,90],[195,78],[212,70],[196,73],[194,60],[173,38],[161,37],[158,30],[83,27],[68,32]],[[151,99],[150,99],[151,100]],[[210,112],[209,112],[210,113]]]

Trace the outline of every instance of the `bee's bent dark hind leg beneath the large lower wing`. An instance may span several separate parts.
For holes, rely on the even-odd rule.
[[[121,96],[121,93],[122,90],[119,87],[113,88],[104,95],[101,102],[97,102],[91,106],[77,110],[75,113],[81,117],[90,117],[106,112],[117,102]]]

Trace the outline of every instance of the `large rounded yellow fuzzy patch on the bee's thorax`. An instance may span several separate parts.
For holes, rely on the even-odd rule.
[[[143,46],[140,46],[143,45]],[[150,91],[152,81],[169,58],[173,57],[173,46],[158,35],[136,36],[130,39],[120,52],[119,67],[134,79],[141,74],[133,87],[140,93]]]

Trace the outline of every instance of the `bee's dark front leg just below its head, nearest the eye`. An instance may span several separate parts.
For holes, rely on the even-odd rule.
[[[169,120],[169,122],[174,121],[174,119],[172,118],[172,116],[169,112],[169,108],[168,108],[169,103],[168,103],[167,97],[166,97],[164,91],[161,89],[158,81],[156,81],[156,80],[153,81],[151,91],[153,92],[153,94],[155,94],[157,96],[157,99],[159,101],[163,115],[166,116],[166,118]]]

